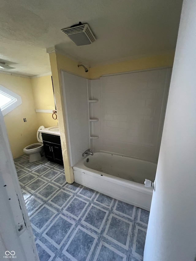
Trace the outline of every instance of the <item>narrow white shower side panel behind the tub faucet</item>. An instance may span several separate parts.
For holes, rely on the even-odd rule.
[[[62,77],[70,166],[74,166],[90,147],[87,80],[63,71]]]

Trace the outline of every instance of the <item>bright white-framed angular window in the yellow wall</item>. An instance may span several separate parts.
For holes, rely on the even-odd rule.
[[[21,96],[0,85],[0,108],[3,116],[22,103]]]

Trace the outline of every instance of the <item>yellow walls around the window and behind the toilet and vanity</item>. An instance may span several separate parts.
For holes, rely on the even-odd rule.
[[[24,147],[38,142],[39,126],[47,128],[58,124],[51,113],[35,112],[35,109],[55,110],[51,76],[29,79],[0,73],[0,84],[22,99],[21,105],[4,116],[12,155],[17,158],[24,154]]]

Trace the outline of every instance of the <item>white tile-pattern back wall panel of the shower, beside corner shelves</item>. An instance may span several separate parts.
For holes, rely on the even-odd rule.
[[[91,80],[91,148],[156,162],[171,69],[155,69]]]

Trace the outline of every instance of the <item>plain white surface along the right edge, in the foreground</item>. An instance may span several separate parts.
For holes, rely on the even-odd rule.
[[[196,2],[184,0],[146,236],[145,261],[196,255]]]

